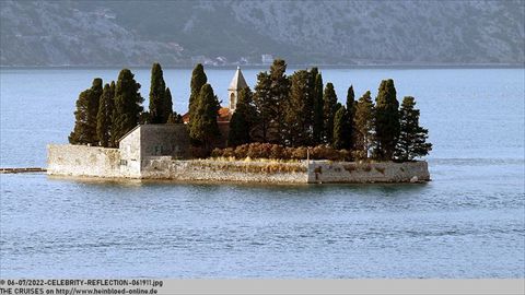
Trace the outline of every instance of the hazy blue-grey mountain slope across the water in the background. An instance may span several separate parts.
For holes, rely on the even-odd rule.
[[[520,0],[1,1],[0,16],[1,66],[525,62]]]

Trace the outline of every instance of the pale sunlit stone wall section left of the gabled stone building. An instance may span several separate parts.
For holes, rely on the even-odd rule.
[[[122,177],[120,152],[118,149],[49,144],[47,173],[68,176]]]

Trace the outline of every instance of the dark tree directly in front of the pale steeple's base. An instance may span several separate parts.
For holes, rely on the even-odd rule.
[[[256,123],[256,117],[252,91],[249,87],[241,90],[235,113],[230,119],[229,146],[236,146],[252,141],[250,130]]]

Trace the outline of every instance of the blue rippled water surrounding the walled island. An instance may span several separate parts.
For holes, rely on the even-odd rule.
[[[322,69],[323,70],[323,69]],[[259,69],[244,70],[254,85]],[[149,70],[133,69],[148,97]],[[207,70],[225,101],[234,70]],[[1,167],[45,166],[117,69],[1,69]],[[164,70],[187,109],[190,70]],[[393,78],[434,150],[427,185],[180,185],[0,177],[0,274],[524,278],[523,69],[324,69],[342,102]]]

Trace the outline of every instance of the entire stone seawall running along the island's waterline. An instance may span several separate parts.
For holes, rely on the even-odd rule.
[[[174,160],[173,156],[124,158],[119,149],[48,145],[49,175],[273,184],[410,182],[430,180],[427,162],[311,163]],[[137,161],[137,165],[130,165]]]

